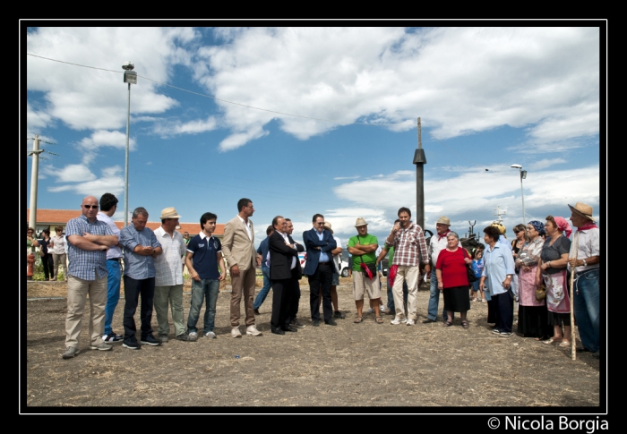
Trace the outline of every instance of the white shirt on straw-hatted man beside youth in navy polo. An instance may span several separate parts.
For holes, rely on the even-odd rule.
[[[170,236],[159,226],[155,229],[157,241],[161,243],[163,253],[155,258],[155,286],[183,285],[183,262],[181,257],[185,256],[187,244],[180,232],[174,231],[174,236]]]

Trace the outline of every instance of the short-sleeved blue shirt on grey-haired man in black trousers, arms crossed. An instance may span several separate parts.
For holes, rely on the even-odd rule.
[[[125,248],[125,276],[135,280],[155,277],[154,258],[133,251],[138,245],[144,247],[150,245],[152,249],[161,247],[152,229],[144,227],[141,232],[138,232],[133,223],[129,223],[120,231],[119,236],[120,244]]]

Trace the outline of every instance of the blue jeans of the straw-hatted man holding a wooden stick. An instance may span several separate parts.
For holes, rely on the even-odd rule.
[[[573,300],[581,344],[593,353],[599,350],[600,341],[598,272],[597,268],[576,276]]]

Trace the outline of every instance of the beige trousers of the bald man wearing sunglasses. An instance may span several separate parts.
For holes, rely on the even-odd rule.
[[[66,347],[78,347],[82,315],[85,311],[88,294],[90,296],[90,345],[100,345],[103,342],[105,308],[107,307],[107,276],[99,280],[83,280],[69,276],[67,280],[67,317],[65,318]]]

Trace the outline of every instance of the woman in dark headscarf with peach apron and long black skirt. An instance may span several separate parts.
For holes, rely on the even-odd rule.
[[[537,341],[548,339],[548,311],[545,300],[536,300],[536,272],[542,246],[545,225],[532,220],[527,225],[528,243],[518,254],[516,267],[519,268],[519,310],[518,332],[525,337],[535,337]]]

